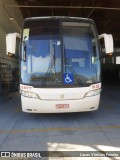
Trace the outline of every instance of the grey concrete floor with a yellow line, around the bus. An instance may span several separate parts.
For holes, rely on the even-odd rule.
[[[9,98],[0,101],[0,151],[119,152],[120,86],[103,85],[99,109],[84,113],[23,113],[19,94],[11,94]],[[65,157],[64,152],[60,154],[62,157],[36,159],[120,159],[120,157]]]

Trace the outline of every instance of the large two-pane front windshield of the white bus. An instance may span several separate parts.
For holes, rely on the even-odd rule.
[[[21,43],[21,83],[79,87],[100,82],[98,38],[90,22],[29,20]]]

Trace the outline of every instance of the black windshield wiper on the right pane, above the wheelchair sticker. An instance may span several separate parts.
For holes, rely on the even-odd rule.
[[[72,64],[70,64],[69,60],[67,58],[65,60],[65,67],[68,67],[69,71],[75,75],[75,78],[77,79],[79,85],[83,86],[82,80],[79,78],[78,74],[76,73],[74,67]]]

